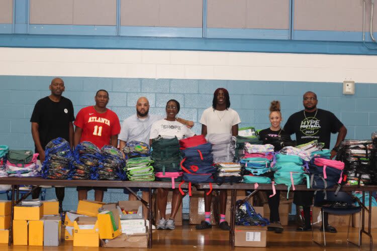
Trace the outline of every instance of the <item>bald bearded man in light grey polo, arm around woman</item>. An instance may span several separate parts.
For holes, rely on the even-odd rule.
[[[163,116],[148,114],[149,113],[149,101],[146,97],[140,97],[136,102],[136,114],[126,118],[121,126],[121,133],[119,134],[119,148],[122,149],[126,146],[127,142],[140,141],[149,145],[149,133],[153,122],[163,119]],[[192,128],[194,126],[193,121],[177,118],[177,120],[187,127]],[[123,152],[123,151],[122,151]],[[142,198],[148,201],[149,189],[148,188],[136,188],[134,191],[142,191]],[[137,200],[137,198],[129,193],[127,189],[124,189],[124,193],[129,195],[129,200]],[[146,208],[144,208],[144,216],[148,215]]]

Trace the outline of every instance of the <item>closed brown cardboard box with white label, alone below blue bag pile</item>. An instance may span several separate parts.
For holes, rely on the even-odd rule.
[[[266,227],[235,226],[235,246],[265,247]]]

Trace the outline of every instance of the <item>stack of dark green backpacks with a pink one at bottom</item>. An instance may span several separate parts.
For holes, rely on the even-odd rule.
[[[151,147],[156,181],[171,181],[171,187],[174,189],[175,182],[182,181],[178,139],[158,137],[152,140]]]

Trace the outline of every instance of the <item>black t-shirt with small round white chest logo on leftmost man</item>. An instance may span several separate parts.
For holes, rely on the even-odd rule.
[[[59,102],[52,101],[48,96],[39,99],[30,118],[30,122],[38,123],[39,140],[43,149],[58,137],[69,142],[69,122],[73,120],[72,102],[63,96]],[[35,152],[38,153],[37,148]]]

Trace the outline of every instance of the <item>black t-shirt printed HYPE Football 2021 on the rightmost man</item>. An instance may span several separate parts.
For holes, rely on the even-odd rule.
[[[330,148],[330,136],[339,132],[343,123],[334,113],[318,109],[314,112],[304,110],[292,114],[284,126],[288,134],[296,134],[297,145],[305,144],[313,140],[325,143],[325,148]]]

